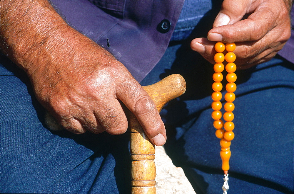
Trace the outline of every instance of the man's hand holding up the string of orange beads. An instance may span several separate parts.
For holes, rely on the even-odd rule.
[[[266,62],[290,38],[291,4],[287,0],[224,0],[208,38],[192,40],[191,48],[214,63],[212,41],[235,42],[239,69]]]

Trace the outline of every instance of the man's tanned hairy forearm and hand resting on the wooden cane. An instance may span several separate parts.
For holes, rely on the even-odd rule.
[[[122,134],[123,103],[154,144],[165,143],[164,124],[141,85],[47,1],[1,1],[1,51],[26,71],[39,102],[66,130]]]

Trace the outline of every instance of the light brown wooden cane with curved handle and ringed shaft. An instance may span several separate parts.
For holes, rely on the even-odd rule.
[[[150,86],[143,86],[155,102],[158,112],[163,106],[186,91],[186,82],[181,75],[173,74]],[[132,113],[129,114],[131,129],[131,178],[132,194],[155,194],[155,146]]]

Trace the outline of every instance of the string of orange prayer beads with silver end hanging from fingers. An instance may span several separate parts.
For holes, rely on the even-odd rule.
[[[213,109],[213,112],[211,114],[212,118],[214,119],[213,126],[216,128],[216,137],[220,139],[220,157],[222,159],[222,169],[225,173],[224,178],[224,186],[223,186],[223,193],[226,194],[227,190],[229,189],[228,186],[228,170],[230,168],[229,166],[229,159],[231,156],[230,151],[230,144],[231,140],[234,139],[234,123],[232,120],[234,119],[234,114],[232,113],[235,105],[233,101],[235,100],[235,94],[233,93],[237,86],[234,83],[237,79],[236,74],[234,73],[236,70],[236,65],[234,63],[236,59],[236,55],[233,53],[233,51],[236,48],[235,43],[227,43],[224,45],[222,42],[217,42],[214,46],[216,50],[216,54],[214,55],[214,61],[216,64],[214,64],[213,69],[215,73],[213,74],[213,81],[215,81],[212,84],[213,93],[211,95],[211,98],[213,99],[213,103],[211,104],[211,107]],[[226,55],[223,54],[223,51],[226,50],[228,53]],[[228,72],[226,76],[226,80],[228,83],[225,86],[225,89],[227,93],[225,94],[225,113],[223,114],[223,119],[226,121],[223,123],[222,113],[220,112],[220,109],[222,108],[222,104],[220,102],[222,98],[221,90],[223,89],[223,85],[220,83],[223,80],[223,70],[224,65],[223,61],[226,60],[228,64],[225,66],[225,70]],[[223,129],[224,128],[224,129]]]

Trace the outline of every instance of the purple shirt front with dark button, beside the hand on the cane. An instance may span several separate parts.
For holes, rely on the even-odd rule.
[[[105,47],[140,82],[168,47],[183,0],[91,1],[52,0],[70,24]]]

